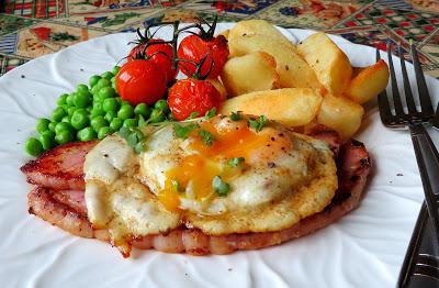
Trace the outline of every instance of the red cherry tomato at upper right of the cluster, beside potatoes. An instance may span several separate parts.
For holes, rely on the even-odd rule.
[[[181,59],[194,63],[200,63],[206,57],[201,67],[200,75],[207,74],[211,65],[213,65],[207,78],[216,78],[228,58],[227,40],[223,35],[212,38],[203,38],[201,35],[189,35],[181,41],[177,55]],[[194,64],[187,62],[180,62],[179,67],[189,77],[194,75],[196,70]]]

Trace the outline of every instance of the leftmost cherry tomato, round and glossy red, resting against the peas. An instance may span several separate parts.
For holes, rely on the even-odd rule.
[[[132,60],[116,75],[116,88],[122,100],[133,106],[153,104],[164,97],[167,88],[164,70],[151,60]]]

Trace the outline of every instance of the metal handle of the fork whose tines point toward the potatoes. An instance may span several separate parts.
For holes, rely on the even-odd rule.
[[[439,153],[424,124],[409,125],[434,235],[439,243]]]

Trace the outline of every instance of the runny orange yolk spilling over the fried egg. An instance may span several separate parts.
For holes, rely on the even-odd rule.
[[[202,130],[211,133],[211,145],[199,135]],[[248,159],[252,151],[270,141],[269,135],[257,133],[247,125],[219,131],[211,122],[201,123],[190,139],[190,147],[196,153],[185,156],[179,166],[166,173],[165,189],[158,195],[159,201],[170,211],[179,209],[180,193],[185,192],[185,197],[204,200],[213,192],[212,180],[215,176],[227,182],[243,171],[243,165],[229,167],[227,163],[221,163],[221,158]]]

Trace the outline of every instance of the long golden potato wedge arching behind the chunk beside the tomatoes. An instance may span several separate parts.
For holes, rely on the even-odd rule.
[[[234,37],[228,41],[230,56],[262,51],[274,57],[281,87],[322,88],[314,70],[297,54],[294,46],[273,43],[260,34]]]

